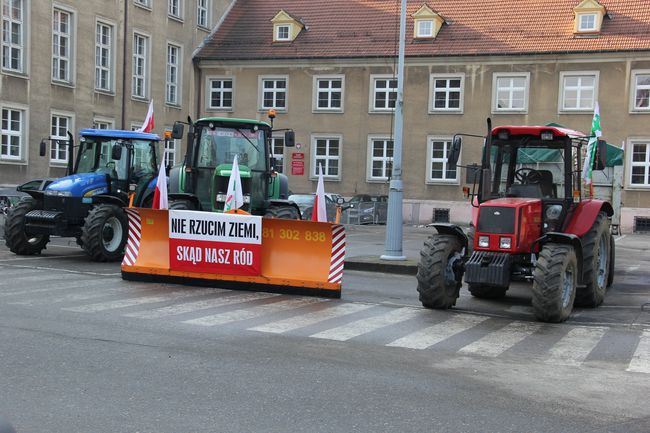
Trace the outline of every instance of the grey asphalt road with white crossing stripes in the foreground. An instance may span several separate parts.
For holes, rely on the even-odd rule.
[[[18,432],[648,432],[650,257],[618,241],[605,304],[564,324],[412,276],[341,300],[126,282],[67,240],[0,247],[0,416]],[[644,302],[645,301],[645,302]]]

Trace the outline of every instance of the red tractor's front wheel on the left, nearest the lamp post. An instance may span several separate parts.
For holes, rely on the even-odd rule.
[[[424,242],[416,275],[423,306],[446,309],[456,304],[463,275],[454,265],[462,263],[462,249],[455,236],[433,235]]]

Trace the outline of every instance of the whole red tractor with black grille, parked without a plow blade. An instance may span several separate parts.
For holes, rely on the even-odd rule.
[[[449,163],[456,165],[460,135]],[[553,126],[498,126],[484,138],[483,161],[469,194],[474,206],[468,234],[433,224],[424,244],[417,290],[422,305],[456,304],[463,276],[478,298],[503,297],[510,281],[532,281],[535,316],[561,322],[573,306],[596,307],[614,277],[612,205],[585,198],[582,150],[589,136]],[[604,168],[606,143],[598,140],[594,170]],[[533,162],[531,155],[545,161]],[[540,158],[537,158],[539,161]],[[468,168],[468,167],[466,167]]]

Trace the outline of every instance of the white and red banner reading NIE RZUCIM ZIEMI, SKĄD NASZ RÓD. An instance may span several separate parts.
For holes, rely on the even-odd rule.
[[[262,217],[169,211],[169,268],[257,276],[262,270]]]

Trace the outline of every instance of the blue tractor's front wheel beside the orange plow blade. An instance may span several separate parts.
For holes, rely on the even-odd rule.
[[[86,254],[96,262],[114,262],[124,254],[129,223],[124,211],[113,204],[93,208],[81,230]]]

